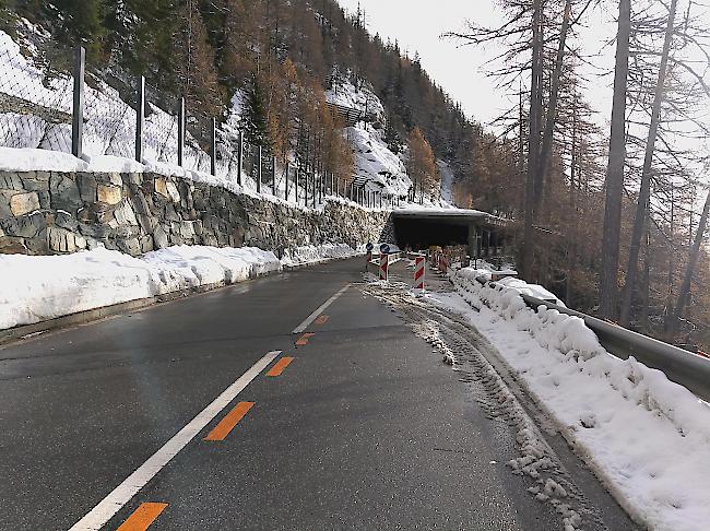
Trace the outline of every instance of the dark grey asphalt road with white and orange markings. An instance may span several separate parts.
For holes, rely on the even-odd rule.
[[[360,267],[0,349],[0,529],[561,529],[505,465],[514,433],[388,307],[353,285],[292,333]]]

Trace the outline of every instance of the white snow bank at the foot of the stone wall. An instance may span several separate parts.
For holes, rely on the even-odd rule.
[[[0,255],[0,329],[281,271],[253,247],[178,246],[133,258],[103,248],[66,256]]]

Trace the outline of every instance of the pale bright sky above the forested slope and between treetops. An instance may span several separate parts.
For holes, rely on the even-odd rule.
[[[351,13],[356,12],[358,0],[339,0]],[[469,117],[488,123],[502,110],[513,105],[496,81],[484,73],[485,62],[495,55],[495,49],[460,46],[441,34],[462,31],[465,21],[494,26],[500,22],[501,13],[495,0],[359,0],[366,14],[367,28],[379,33],[383,39],[397,39],[410,56],[419,54],[422,66],[455,101],[461,102]],[[588,99],[599,110],[597,122],[606,123],[611,114],[613,78],[600,70],[613,69],[613,47],[603,43],[614,35],[614,22],[610,15],[595,12],[587,21],[581,33],[587,49],[603,51],[595,59],[599,70],[588,69]]]

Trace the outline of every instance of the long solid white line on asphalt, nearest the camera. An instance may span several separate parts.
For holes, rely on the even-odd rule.
[[[192,440],[204,426],[224,410],[237,394],[251,384],[269,366],[281,351],[267,353],[261,359],[226,388],[214,401],[173,436],[163,447],[129,475],[123,483],[90,510],[84,518],[74,523],[69,531],[97,531],[110,520],[145,484],[165,467],[182,448]]]

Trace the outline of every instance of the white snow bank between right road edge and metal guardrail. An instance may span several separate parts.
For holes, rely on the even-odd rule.
[[[608,354],[576,317],[525,306],[517,290],[451,274],[431,299],[470,319],[619,503],[663,531],[710,521],[710,408],[660,370]],[[520,286],[519,286],[520,287]]]

